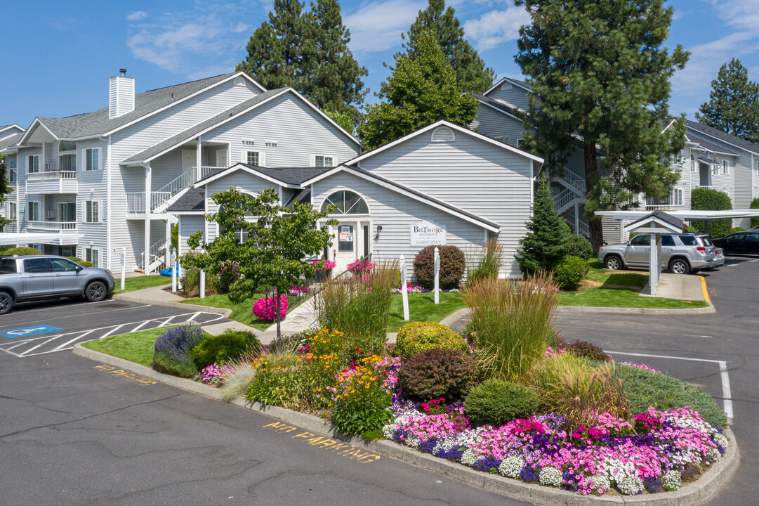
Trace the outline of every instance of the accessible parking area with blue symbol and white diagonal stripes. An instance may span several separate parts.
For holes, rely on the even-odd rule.
[[[194,321],[222,321],[216,313],[106,300],[69,299],[19,304],[0,316],[0,351],[19,358],[72,349],[76,343]]]

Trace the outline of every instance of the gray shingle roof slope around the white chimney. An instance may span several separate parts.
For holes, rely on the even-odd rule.
[[[80,138],[104,134],[106,131],[126,125],[135,119],[150,114],[150,112],[203,90],[205,87],[223,81],[232,74],[235,73],[206,77],[206,79],[200,79],[199,81],[191,81],[189,83],[137,93],[134,96],[134,111],[114,119],[109,119],[108,107],[104,107],[86,114],[78,114],[66,118],[40,117],[39,120],[59,138]]]

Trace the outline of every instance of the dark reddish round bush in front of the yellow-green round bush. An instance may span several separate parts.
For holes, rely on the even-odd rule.
[[[477,360],[461,349],[433,348],[412,356],[398,370],[398,384],[413,400],[463,397],[477,378]]]

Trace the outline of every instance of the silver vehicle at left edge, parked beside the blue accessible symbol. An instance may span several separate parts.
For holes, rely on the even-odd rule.
[[[114,289],[108,269],[82,267],[52,255],[0,257],[0,315],[11,311],[16,302],[61,297],[96,302]]]

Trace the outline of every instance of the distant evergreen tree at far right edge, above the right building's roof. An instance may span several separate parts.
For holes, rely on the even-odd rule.
[[[712,81],[709,102],[701,104],[696,119],[750,142],[759,142],[759,84],[748,81],[738,59],[720,67]]]

